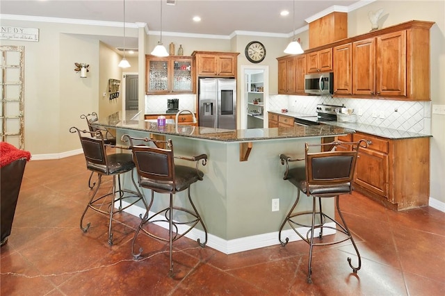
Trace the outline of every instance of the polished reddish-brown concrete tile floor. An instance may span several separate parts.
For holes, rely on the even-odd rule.
[[[342,196],[362,254],[357,274],[346,261],[357,260],[350,243],[314,248],[309,284],[305,242],[226,255],[181,238],[168,277],[165,243],[140,236],[144,258],[133,260],[138,217],[116,215],[113,246],[103,215],[88,212],[92,226],[79,229],[88,176],[82,155],[27,163],[1,247],[1,295],[445,295],[445,213],[434,208],[396,213],[355,192]]]

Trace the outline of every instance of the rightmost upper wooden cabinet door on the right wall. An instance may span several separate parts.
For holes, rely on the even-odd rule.
[[[380,96],[406,96],[406,31],[377,38],[376,91]]]

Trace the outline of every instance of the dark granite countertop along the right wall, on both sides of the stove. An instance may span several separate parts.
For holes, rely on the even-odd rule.
[[[285,115],[290,117],[302,118],[305,120],[310,120],[309,117],[315,118],[316,114],[306,114],[306,113],[295,113],[288,112],[282,113],[279,111],[268,111],[271,113],[276,113],[278,115]],[[316,120],[314,120],[316,122]],[[377,135],[378,137],[387,138],[391,140],[397,139],[409,139],[409,138],[429,138],[432,135],[426,135],[423,133],[413,133],[411,131],[401,131],[399,129],[389,129],[386,127],[375,126],[370,124],[362,124],[359,122],[323,122],[322,124],[327,124],[330,126],[339,126],[345,129],[352,129],[361,133],[368,133],[369,135]]]

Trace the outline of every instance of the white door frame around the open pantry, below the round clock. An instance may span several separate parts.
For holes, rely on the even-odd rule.
[[[266,129],[268,127],[268,101],[269,101],[269,66],[268,65],[241,65],[241,81],[240,81],[240,92],[241,99],[239,104],[239,113],[240,114],[240,129],[248,128],[248,99],[245,96],[247,90],[245,90],[246,83],[245,81],[245,72],[248,70],[263,70],[264,71],[264,114],[263,114],[263,128]]]

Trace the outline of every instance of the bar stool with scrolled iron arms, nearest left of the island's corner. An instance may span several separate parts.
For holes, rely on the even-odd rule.
[[[142,231],[147,236],[156,238],[157,240],[169,242],[169,274],[170,277],[172,277],[172,244],[175,240],[178,240],[186,235],[186,233],[191,231],[191,229],[193,229],[199,223],[204,230],[205,238],[204,242],[201,242],[200,238],[197,239],[197,242],[201,247],[204,247],[207,243],[207,228],[205,227],[204,222],[202,221],[202,218],[195,207],[195,204],[193,204],[190,195],[191,184],[202,180],[202,177],[204,176],[204,174],[198,170],[198,166],[200,163],[202,163],[202,165],[206,165],[207,155],[201,154],[191,158],[174,156],[172,140],[131,138],[129,135],[122,135],[122,141],[125,142],[127,140],[130,142],[130,149],[133,151],[133,161],[136,164],[136,170],[138,171],[139,184],[141,187],[152,191],[152,200],[149,204],[149,208],[151,208],[153,204],[154,192],[170,195],[170,202],[167,208],[156,211],[156,213],[151,215],[149,210],[147,210],[147,213],[145,213],[143,220],[140,222],[139,227],[134,234],[131,252],[134,258],[138,258],[143,252],[142,248],[139,249],[138,253],[134,252],[134,245],[139,231]],[[135,141],[139,142],[140,145],[134,145]],[[144,143],[147,145],[143,145]],[[186,161],[195,161],[195,167],[175,165],[174,158],[180,158]],[[187,190],[188,201],[192,207],[191,210],[173,205],[173,195],[183,190]],[[187,217],[184,218],[184,215],[182,214],[186,214]],[[190,220],[184,221],[185,219]],[[148,231],[147,226],[155,222],[168,222],[168,238],[161,238]]]

